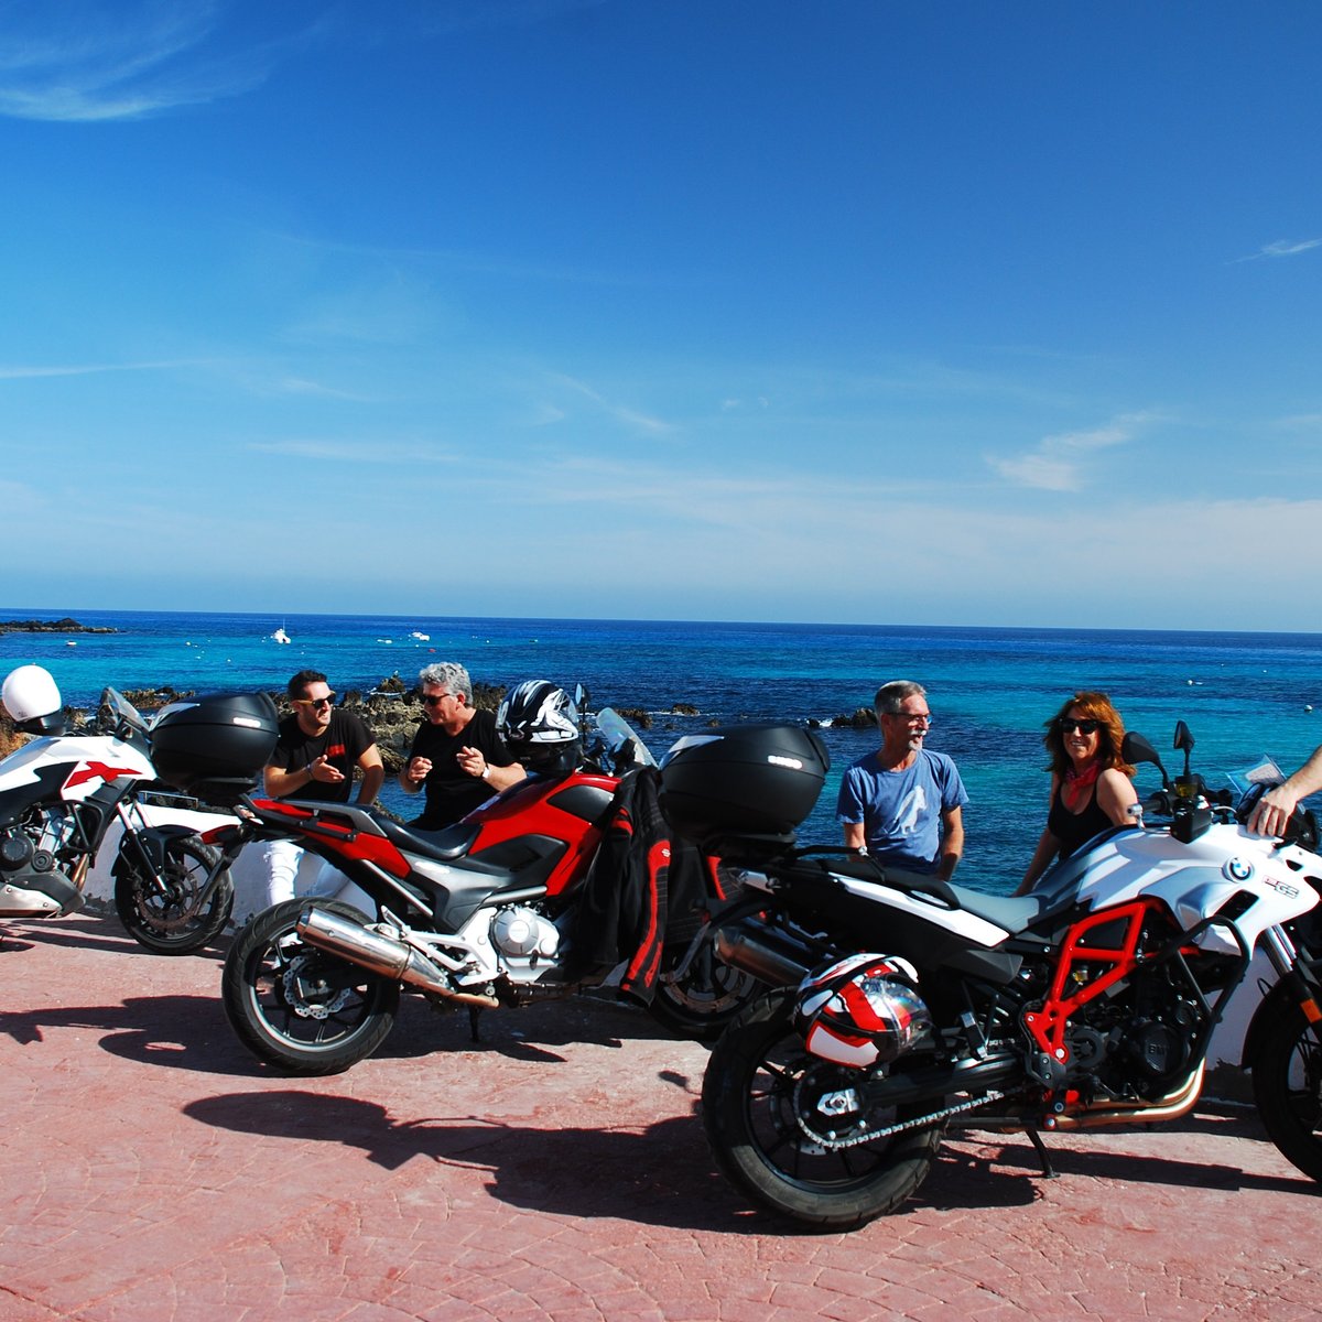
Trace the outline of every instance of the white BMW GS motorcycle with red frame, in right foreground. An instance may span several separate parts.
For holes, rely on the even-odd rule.
[[[820,785],[825,747],[813,765],[814,736],[792,734],[796,747],[767,744],[758,773]],[[1322,1181],[1322,858],[1310,813],[1285,838],[1249,834],[1252,796],[1237,809],[1210,801],[1181,722],[1185,772],[1171,785],[1162,769],[1165,788],[1145,804],[1163,822],[1140,813],[1058,863],[1035,894],[1001,898],[866,855],[787,847],[784,822],[731,830],[720,810],[697,812],[702,793],[719,784],[728,797],[742,773],[740,759],[717,767],[722,738],[681,742],[662,780],[687,833],[747,865],[717,949],[775,988],[727,1029],[702,1091],[717,1165],[754,1203],[847,1229],[919,1187],[951,1125],[1025,1130],[1050,1175],[1042,1132],[1187,1113],[1255,951],[1276,981],[1243,1066],[1273,1142]],[[1161,767],[1138,736],[1125,758]],[[697,775],[686,759],[713,769]],[[754,797],[775,791],[765,783]]]

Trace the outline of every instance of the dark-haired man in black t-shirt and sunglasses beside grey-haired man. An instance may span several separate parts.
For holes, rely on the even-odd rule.
[[[386,768],[366,723],[334,705],[334,694],[320,670],[300,670],[290,680],[288,695],[293,715],[280,722],[275,751],[266,768],[266,792],[272,798],[336,804],[356,797],[357,802],[370,806],[386,779]],[[361,772],[357,796],[356,772]],[[293,899],[301,858],[303,850],[293,841],[275,839],[267,845],[267,903]],[[313,890],[321,887],[319,876]]]

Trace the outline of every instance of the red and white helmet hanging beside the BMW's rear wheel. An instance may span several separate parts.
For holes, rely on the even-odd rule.
[[[866,1069],[925,1036],[932,1015],[907,960],[851,954],[798,984],[795,1023],[814,1056]]]

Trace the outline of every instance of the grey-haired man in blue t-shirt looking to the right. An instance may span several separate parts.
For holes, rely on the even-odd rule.
[[[964,853],[964,805],[969,796],[952,759],[929,752],[927,691],[912,680],[876,690],[882,747],[851,763],[839,785],[836,816],[845,843],[880,863],[945,880]]]

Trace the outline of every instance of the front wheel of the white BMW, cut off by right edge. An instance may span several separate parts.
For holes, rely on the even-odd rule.
[[[1322,1182],[1322,1043],[1298,1006],[1274,1015],[1259,1043],[1253,1099],[1272,1142]]]

